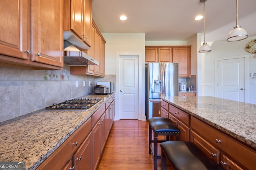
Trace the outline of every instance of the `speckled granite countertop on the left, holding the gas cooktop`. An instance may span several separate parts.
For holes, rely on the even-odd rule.
[[[82,96],[102,99],[88,111],[42,109],[1,122],[0,161],[24,161],[26,169],[36,169],[113,95]]]

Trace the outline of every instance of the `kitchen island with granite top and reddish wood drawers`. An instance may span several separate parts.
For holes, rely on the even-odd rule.
[[[218,164],[234,160],[228,166],[256,167],[256,105],[209,96],[162,97],[162,100],[169,104],[170,119],[184,124],[182,116],[188,115],[185,123],[190,134],[188,140],[202,149],[216,150],[212,157],[216,157]]]

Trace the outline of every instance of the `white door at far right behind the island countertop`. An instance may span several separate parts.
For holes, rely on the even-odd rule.
[[[218,60],[218,98],[245,102],[244,58]]]

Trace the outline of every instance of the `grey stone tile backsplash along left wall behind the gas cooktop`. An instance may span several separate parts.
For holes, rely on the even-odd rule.
[[[0,66],[0,122],[53,103],[88,95],[97,81],[115,81],[115,75],[106,75],[104,78],[71,75],[68,65],[64,65],[63,70],[26,70]]]

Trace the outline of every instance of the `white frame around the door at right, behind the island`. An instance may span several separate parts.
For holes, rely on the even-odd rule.
[[[216,58],[214,63],[215,68],[215,79],[214,79],[214,86],[216,88],[215,90],[215,96],[218,96],[218,61],[219,60],[230,60],[230,59],[239,59],[244,58],[244,102],[249,102],[249,55],[235,55],[235,56],[227,56],[227,57],[221,57]]]

